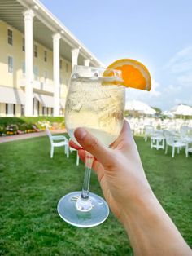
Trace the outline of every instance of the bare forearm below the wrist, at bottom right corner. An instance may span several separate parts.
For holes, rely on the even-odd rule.
[[[135,255],[192,255],[177,227],[151,192],[134,201],[122,214]]]

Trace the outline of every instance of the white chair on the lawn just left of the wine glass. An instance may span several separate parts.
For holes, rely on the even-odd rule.
[[[68,157],[68,139],[64,135],[51,135],[48,127],[46,127],[46,134],[50,139],[50,158],[54,156],[55,147],[64,147],[64,152]]]

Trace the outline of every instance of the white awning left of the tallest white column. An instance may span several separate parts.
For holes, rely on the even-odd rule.
[[[0,103],[24,104],[24,91],[7,86],[0,86]]]

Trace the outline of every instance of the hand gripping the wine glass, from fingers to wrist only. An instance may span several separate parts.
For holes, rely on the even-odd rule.
[[[94,156],[93,169],[106,201],[116,217],[124,222],[124,213],[151,192],[128,122],[124,121],[120,136],[111,148],[105,147],[82,128],[75,130],[75,137],[82,148],[72,141],[70,146],[78,150],[83,161],[85,150]]]

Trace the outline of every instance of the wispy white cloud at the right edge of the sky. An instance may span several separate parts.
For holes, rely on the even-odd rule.
[[[172,56],[164,66],[164,77],[168,81],[162,90],[162,108],[172,108],[176,104],[192,105],[192,46]]]

